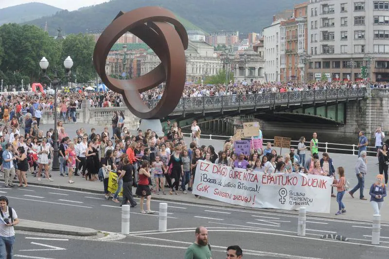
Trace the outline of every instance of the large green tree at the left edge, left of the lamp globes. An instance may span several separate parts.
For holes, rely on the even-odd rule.
[[[50,66],[58,64],[58,41],[34,25],[4,24],[0,27],[0,38],[3,49],[7,50],[2,57],[0,70],[20,74],[15,76],[17,80],[20,79],[18,77],[27,76],[28,81],[36,81],[39,78],[39,61],[42,56],[49,60]],[[11,77],[9,80],[14,81]]]

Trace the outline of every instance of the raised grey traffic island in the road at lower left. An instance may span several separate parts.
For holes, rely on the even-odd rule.
[[[30,220],[23,220],[23,219],[20,219],[20,223],[14,226],[14,228],[15,230],[22,230],[22,231],[69,235],[69,236],[78,236],[78,237],[96,236],[98,233],[97,230],[88,227],[77,227],[77,226],[62,225],[62,224],[55,224],[55,223],[48,223],[48,222],[37,222],[37,221],[30,221]]]

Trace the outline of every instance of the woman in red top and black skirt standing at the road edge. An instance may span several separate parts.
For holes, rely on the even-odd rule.
[[[155,211],[150,209],[151,203],[151,190],[149,186],[149,162],[147,160],[143,160],[141,169],[139,170],[139,182],[136,191],[136,195],[141,197],[140,206],[142,214],[154,214]],[[177,187],[178,188],[178,187]],[[143,201],[144,197],[146,197],[146,211],[143,210]]]

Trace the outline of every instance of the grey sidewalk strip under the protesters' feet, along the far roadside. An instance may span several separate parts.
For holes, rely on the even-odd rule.
[[[74,184],[68,183],[68,177],[60,177],[59,172],[52,172],[52,178],[54,182],[48,182],[46,179],[42,179],[41,182],[37,181],[36,177],[32,177],[31,174],[28,175],[27,182],[29,185],[40,185],[48,186],[59,189],[69,189],[69,190],[79,190],[93,193],[103,194],[103,183],[100,181],[90,182],[86,181],[85,178],[81,176],[73,177]],[[17,181],[14,181],[16,183]],[[17,182],[18,183],[18,182]],[[2,183],[0,186],[3,185]],[[136,188],[132,189],[132,192],[135,193]],[[336,190],[335,190],[336,194]],[[363,221],[371,222],[373,217],[373,210],[371,208],[369,199],[369,189],[364,190],[364,195],[368,198],[368,201],[359,200],[359,191],[354,193],[354,199],[346,192],[343,198],[343,203],[346,206],[347,213],[339,216],[335,216],[336,211],[338,210],[338,204],[336,198],[331,198],[331,213],[307,213],[308,216],[321,217],[328,219],[337,219],[337,220],[353,220],[353,221]],[[104,197],[102,196],[102,199]],[[258,210],[266,212],[279,212],[283,214],[293,214],[298,215],[297,211],[289,210],[279,210],[279,209],[258,209],[258,208],[249,208],[243,206],[235,206],[229,203],[222,203],[219,201],[214,201],[208,198],[195,199],[195,196],[188,191],[188,194],[182,194],[180,196],[176,195],[156,195],[152,194],[152,200],[162,200],[170,202],[182,202],[182,203],[193,203],[193,204],[202,204],[202,205],[213,205],[227,208],[239,208],[239,209],[248,209],[248,210]],[[389,199],[388,197],[386,199]],[[389,224],[389,205],[387,200],[385,200],[382,209],[381,209],[381,222]]]

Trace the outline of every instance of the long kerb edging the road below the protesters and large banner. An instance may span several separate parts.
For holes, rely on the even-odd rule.
[[[1,182],[4,182],[3,180],[0,180]],[[13,181],[14,183],[19,183],[17,180]],[[85,192],[90,192],[90,193],[97,193],[97,194],[102,194],[102,191],[94,190],[94,189],[87,189],[87,188],[82,188],[82,187],[73,187],[73,186],[62,186],[62,185],[50,185],[50,184],[44,184],[44,183],[28,183],[29,185],[36,185],[36,186],[45,186],[45,187],[52,187],[56,189],[63,189],[63,190],[75,190],[75,191],[85,191]],[[220,206],[223,208],[230,208],[230,209],[236,209],[239,208],[241,210],[248,210],[248,211],[260,211],[260,212],[272,212],[272,213],[282,213],[285,215],[291,215],[291,216],[298,216],[298,213],[293,213],[289,212],[287,210],[279,210],[279,209],[272,209],[272,208],[250,208],[250,207],[244,207],[244,206],[236,206],[236,205],[231,205],[231,204],[207,204],[206,202],[201,203],[198,201],[177,201],[175,199],[169,199],[169,198],[163,198],[163,197],[152,197],[153,200],[158,200],[158,201],[166,201],[166,202],[176,202],[176,203],[192,203],[196,205],[210,205],[210,206]],[[325,216],[318,216],[318,215],[312,215],[312,214],[307,214],[307,216],[312,217],[312,218],[317,218],[317,219],[326,219],[326,220],[337,220],[337,221],[344,221],[344,222],[361,222],[361,223],[371,223],[371,221],[366,221],[366,220],[357,220],[357,219],[339,219],[339,218],[331,218],[331,217],[325,217]],[[389,224],[389,222],[381,222],[383,224]]]

